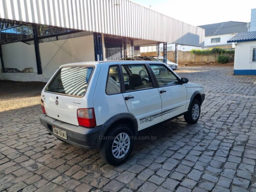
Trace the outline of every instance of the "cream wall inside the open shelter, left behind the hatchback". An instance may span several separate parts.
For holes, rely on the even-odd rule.
[[[22,42],[2,45],[6,68],[23,70],[33,67],[34,73],[0,73],[0,79],[47,81],[62,64],[95,60],[93,35],[40,43],[39,50],[42,75],[37,74],[34,45]]]

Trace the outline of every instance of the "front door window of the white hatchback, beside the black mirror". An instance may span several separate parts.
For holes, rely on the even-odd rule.
[[[177,77],[164,65],[150,65],[152,68],[156,80],[158,82],[159,87],[167,86],[167,85],[174,85],[179,84],[179,80]],[[158,68],[158,73],[155,72],[155,68]]]

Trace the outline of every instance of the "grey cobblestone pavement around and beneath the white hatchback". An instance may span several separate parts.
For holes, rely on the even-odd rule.
[[[47,134],[39,104],[1,112],[0,191],[255,192],[256,77],[232,69],[180,67],[205,87],[198,123],[180,117],[140,132],[156,140],[135,141],[118,167]]]

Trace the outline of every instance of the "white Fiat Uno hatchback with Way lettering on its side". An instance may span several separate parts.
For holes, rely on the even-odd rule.
[[[59,140],[99,149],[108,164],[119,165],[131,154],[138,131],[181,115],[196,123],[204,98],[201,85],[162,62],[71,63],[60,66],[42,90],[40,122]]]

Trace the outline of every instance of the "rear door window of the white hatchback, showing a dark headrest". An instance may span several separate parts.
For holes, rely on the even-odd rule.
[[[125,91],[153,88],[145,65],[122,65]]]

